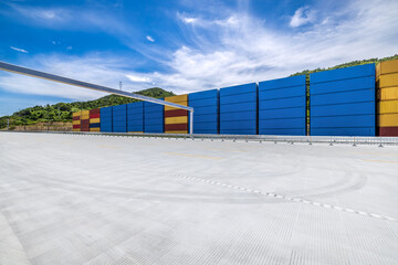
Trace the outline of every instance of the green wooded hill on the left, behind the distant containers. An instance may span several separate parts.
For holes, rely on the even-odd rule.
[[[149,97],[167,97],[174,96],[172,92],[164,91],[159,87],[148,88],[136,92],[136,94]],[[129,97],[108,95],[95,100],[88,102],[73,102],[73,103],[57,103],[54,105],[34,106],[19,110],[11,116],[0,117],[0,129],[7,127],[7,119],[10,118],[10,128],[15,126],[34,125],[38,123],[48,121],[72,121],[72,113],[85,109],[95,109],[107,106],[115,106],[138,102]]]

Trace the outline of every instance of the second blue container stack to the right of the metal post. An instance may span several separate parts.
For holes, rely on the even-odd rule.
[[[255,83],[220,89],[220,134],[256,135]]]

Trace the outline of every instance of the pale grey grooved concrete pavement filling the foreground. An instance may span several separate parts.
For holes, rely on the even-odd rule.
[[[398,148],[0,134],[0,264],[398,264]]]

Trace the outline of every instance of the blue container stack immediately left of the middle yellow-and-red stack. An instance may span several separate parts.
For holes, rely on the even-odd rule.
[[[164,106],[144,102],[144,131],[164,132]]]

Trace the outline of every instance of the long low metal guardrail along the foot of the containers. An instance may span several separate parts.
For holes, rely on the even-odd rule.
[[[134,132],[94,132],[94,131],[17,131],[3,130],[9,132],[35,132],[35,134],[63,134],[82,136],[109,136],[109,137],[140,137],[140,138],[175,138],[184,140],[221,140],[221,141],[258,141],[258,142],[287,142],[301,144],[327,144],[333,145],[377,145],[377,146],[398,146],[398,137],[355,137],[355,136],[274,136],[274,135],[200,135],[200,134],[134,134]]]

